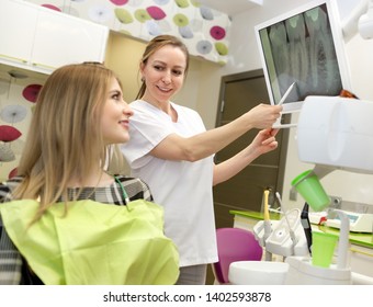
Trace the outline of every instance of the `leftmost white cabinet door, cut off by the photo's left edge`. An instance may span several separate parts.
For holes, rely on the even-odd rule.
[[[34,43],[37,9],[26,3],[1,0],[0,57],[26,64]]]

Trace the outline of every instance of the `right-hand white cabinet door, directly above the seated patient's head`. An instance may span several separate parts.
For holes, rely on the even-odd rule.
[[[72,62],[103,61],[108,36],[106,26],[41,8],[32,65],[54,69]]]

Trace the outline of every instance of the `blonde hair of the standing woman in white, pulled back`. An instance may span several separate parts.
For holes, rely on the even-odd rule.
[[[185,55],[185,70],[184,70],[184,78],[185,78],[188,75],[188,69],[189,69],[189,50],[185,44],[181,39],[172,35],[158,35],[154,37],[146,46],[140,64],[146,65],[150,56],[152,56],[160,48],[168,46],[168,45],[180,48],[180,50],[182,50],[183,54]],[[136,95],[136,99],[140,99],[144,95],[145,90],[146,90],[146,83],[143,80],[142,87]]]

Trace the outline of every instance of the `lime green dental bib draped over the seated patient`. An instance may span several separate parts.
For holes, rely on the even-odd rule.
[[[7,232],[47,285],[174,284],[179,254],[163,235],[162,207],[137,200],[126,206],[93,201],[54,204],[29,227],[38,202],[0,204]]]

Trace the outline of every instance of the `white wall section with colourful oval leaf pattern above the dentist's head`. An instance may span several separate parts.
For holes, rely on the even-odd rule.
[[[150,41],[159,34],[180,36],[192,55],[226,62],[228,15],[197,0],[29,0],[66,14],[106,25],[134,38]]]

